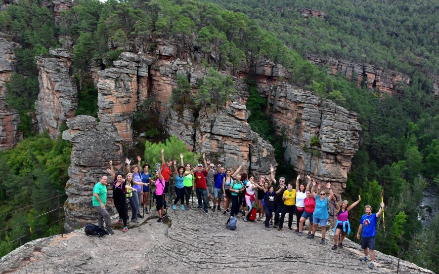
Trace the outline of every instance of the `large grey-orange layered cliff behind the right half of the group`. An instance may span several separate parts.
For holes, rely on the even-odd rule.
[[[358,150],[361,127],[356,114],[310,91],[280,83],[272,62],[262,61],[257,68],[258,89],[268,100],[275,133],[286,135],[285,159],[299,174],[334,182],[335,191],[343,192],[351,158]]]

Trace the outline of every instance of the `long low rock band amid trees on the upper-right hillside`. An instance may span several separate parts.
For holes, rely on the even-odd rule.
[[[392,95],[400,92],[398,84],[410,85],[410,78],[394,71],[384,71],[382,68],[372,65],[359,64],[335,58],[319,58],[308,55],[308,60],[318,66],[328,66],[328,74],[341,74],[348,79],[355,79],[357,86],[360,87],[363,79],[367,82],[367,88],[378,88],[381,93]]]

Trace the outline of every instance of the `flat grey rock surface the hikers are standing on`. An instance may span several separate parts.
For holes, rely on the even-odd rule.
[[[0,272],[396,273],[397,258],[380,252],[370,271],[358,260],[360,246],[350,240],[345,240],[344,249],[332,251],[330,240],[321,245],[319,237],[310,240],[288,229],[265,231],[263,222],[239,218],[236,231],[230,231],[224,227],[227,218],[218,211],[170,209],[162,223],[147,214],[143,224],[127,233],[115,230],[114,235],[98,238],[77,230],[64,237],[51,236],[3,257]],[[401,260],[399,273],[432,272]]]

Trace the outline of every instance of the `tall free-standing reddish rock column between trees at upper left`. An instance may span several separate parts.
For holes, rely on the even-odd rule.
[[[47,57],[37,57],[40,93],[35,102],[40,132],[48,131],[52,138],[78,108],[78,87],[72,76],[73,54],[66,50],[50,49]]]

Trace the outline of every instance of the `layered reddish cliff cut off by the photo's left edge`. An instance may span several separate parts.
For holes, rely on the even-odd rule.
[[[19,46],[19,44],[10,41],[7,35],[0,32],[0,151],[13,147],[20,138],[18,111],[8,107],[4,99],[5,83],[9,81],[15,71],[14,49]]]

